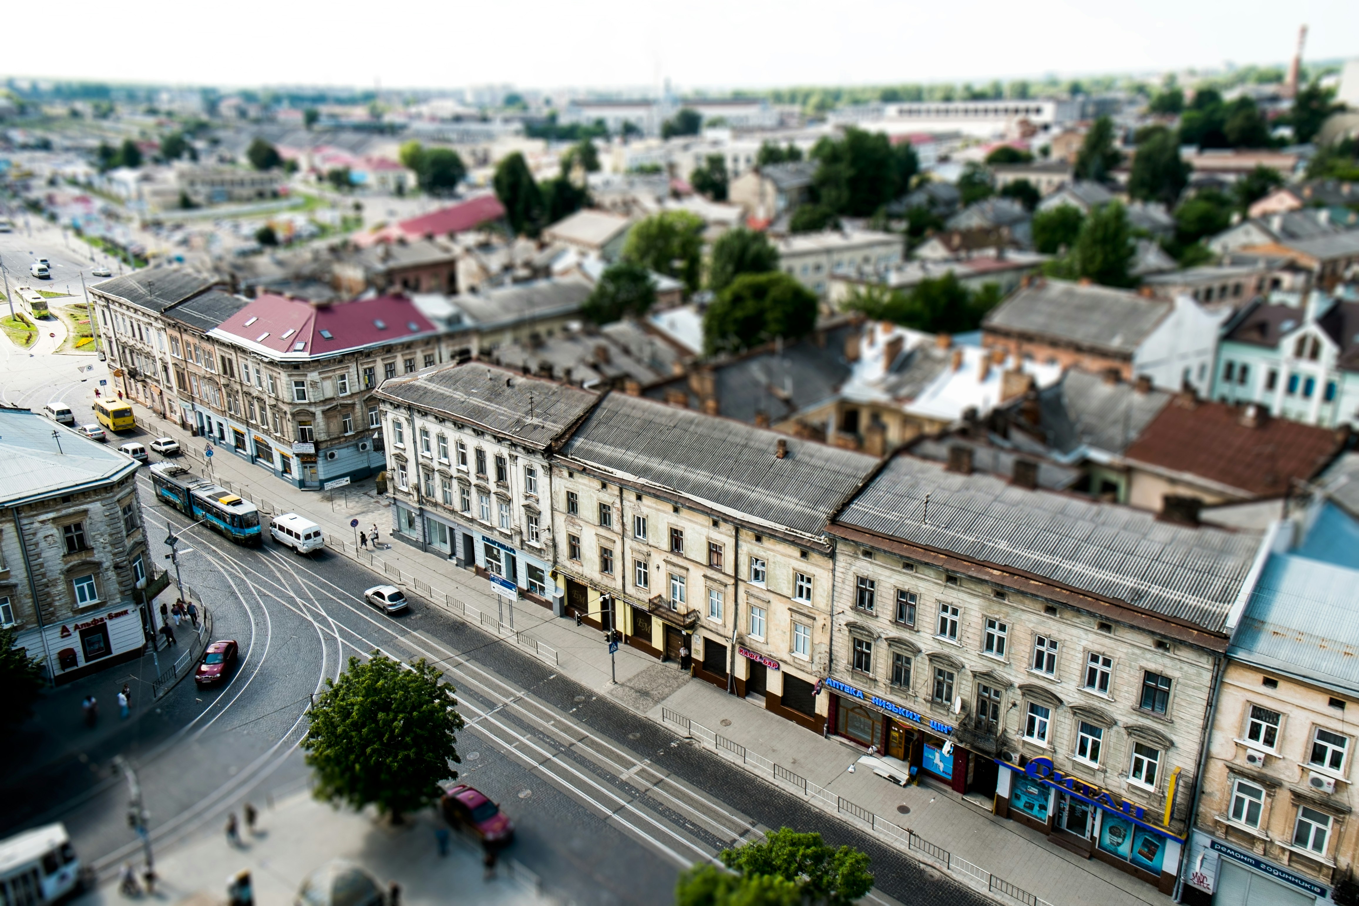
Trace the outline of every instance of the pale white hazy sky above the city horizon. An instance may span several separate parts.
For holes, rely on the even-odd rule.
[[[14,76],[186,86],[973,81],[1359,57],[1359,0],[16,1]]]

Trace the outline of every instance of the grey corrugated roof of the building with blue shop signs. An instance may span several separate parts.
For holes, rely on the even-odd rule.
[[[1129,507],[1026,490],[905,455],[836,522],[1022,569],[1210,632],[1223,630],[1260,545],[1252,532],[1171,526]]]

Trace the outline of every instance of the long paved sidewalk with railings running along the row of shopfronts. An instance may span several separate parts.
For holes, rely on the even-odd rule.
[[[139,416],[140,417],[140,416]],[[152,425],[166,425],[151,420]],[[204,439],[188,439],[177,429],[164,433],[193,446],[185,446],[201,467]],[[360,528],[378,523],[390,539],[391,515],[387,499],[378,496],[372,481],[361,481],[345,488],[348,492],[304,492],[284,485],[228,451],[213,456],[219,482],[232,482],[231,489],[261,507],[277,512],[296,509],[313,519],[328,534],[328,546],[337,553],[359,560],[390,580],[427,598],[450,614],[480,623],[507,641],[518,641],[530,653],[554,664],[571,679],[597,689],[618,704],[666,723],[671,731],[685,735],[685,728],[673,720],[662,720],[662,710],[690,719],[692,735],[700,744],[735,763],[745,765],[768,782],[773,777],[773,763],[795,777],[806,778],[810,788],[821,788],[809,801],[830,814],[855,822],[848,815],[864,812],[872,819],[871,827],[886,842],[911,852],[924,863],[945,863],[930,857],[930,846],[947,850],[953,873],[980,890],[995,892],[1004,884],[1018,887],[1019,894],[1036,896],[1053,906],[1097,902],[1104,906],[1170,906],[1169,896],[1155,887],[1125,875],[1112,865],[1082,858],[1042,834],[1030,831],[1017,822],[996,818],[988,808],[930,781],[901,788],[871,772],[849,773],[848,766],[862,754],[847,743],[803,729],[754,704],[726,694],[705,682],[692,682],[690,676],[671,663],[621,645],[616,655],[617,685],[612,682],[610,657],[601,634],[573,621],[554,618],[546,609],[527,600],[515,602],[514,630],[499,625],[499,599],[489,583],[453,561],[400,541],[389,550],[359,551],[349,527],[357,519]],[[716,733],[728,740],[720,747]],[[735,748],[731,748],[731,746]],[[735,754],[743,750],[745,754]],[[841,807],[848,800],[848,808]],[[909,837],[909,833],[915,837]],[[919,844],[919,845],[917,845]],[[959,868],[962,863],[962,868]],[[970,867],[966,863],[972,863]],[[991,877],[995,876],[995,882]],[[998,886],[999,883],[999,886]],[[1023,896],[1021,896],[1023,899]]]

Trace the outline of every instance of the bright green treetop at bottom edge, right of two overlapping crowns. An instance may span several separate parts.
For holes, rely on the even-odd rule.
[[[852,906],[872,890],[870,858],[852,846],[828,846],[821,834],[780,827],[762,842],[718,853],[727,868],[743,877],[768,876],[798,884],[805,901],[825,906]]]

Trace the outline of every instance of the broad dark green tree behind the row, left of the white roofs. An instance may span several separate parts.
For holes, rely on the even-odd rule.
[[[737,352],[772,341],[796,340],[817,326],[817,296],[794,277],[773,270],[733,280],[703,315],[704,350]]]

